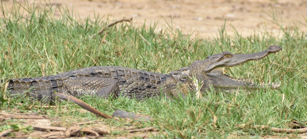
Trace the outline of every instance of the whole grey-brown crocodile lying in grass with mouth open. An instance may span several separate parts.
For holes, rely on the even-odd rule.
[[[11,79],[7,90],[11,95],[26,93],[38,100],[54,100],[54,92],[80,97],[83,95],[116,98],[125,96],[144,100],[149,97],[185,97],[196,86],[193,79],[201,82],[201,93],[212,86],[214,89],[277,89],[279,84],[255,83],[250,79],[238,79],[225,74],[232,66],[251,60],[259,60],[282,50],[272,45],[268,49],[253,54],[232,54],[222,52],[208,56],[205,60],[194,61],[190,66],[170,72],[153,73],[139,69],[117,66],[93,66],[65,73],[43,77]]]

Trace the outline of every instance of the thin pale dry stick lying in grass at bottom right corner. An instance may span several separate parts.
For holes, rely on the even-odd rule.
[[[238,125],[240,129],[243,129],[246,126],[246,124],[241,124]],[[265,125],[254,125],[251,126],[252,128],[260,128],[260,129],[266,129],[270,130],[276,133],[305,133],[307,132],[307,127],[306,128],[300,128],[300,129],[284,129],[284,128],[276,128],[276,127],[270,127],[270,126],[265,126]]]

